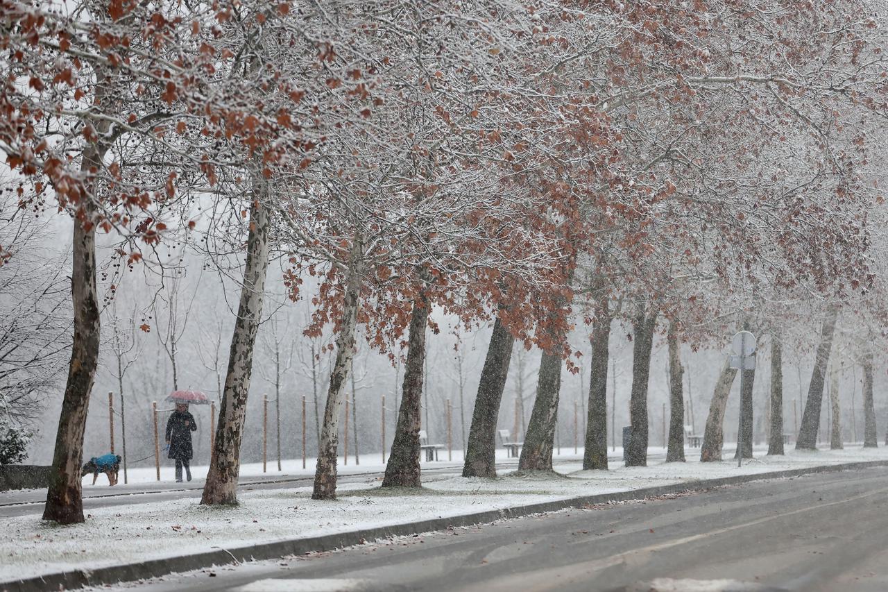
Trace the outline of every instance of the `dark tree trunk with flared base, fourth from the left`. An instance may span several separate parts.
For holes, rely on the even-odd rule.
[[[422,274],[422,272],[420,272]],[[424,277],[424,279],[426,279]],[[410,316],[407,367],[401,387],[398,422],[394,428],[392,452],[385,465],[383,487],[421,487],[419,468],[419,428],[425,357],[425,327],[429,320],[429,302],[424,294],[416,297]],[[428,402],[426,402],[428,408]],[[426,429],[428,426],[426,425]]]

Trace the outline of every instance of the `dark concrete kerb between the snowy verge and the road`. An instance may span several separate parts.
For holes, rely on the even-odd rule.
[[[888,460],[868,460],[848,462],[836,465],[817,467],[792,468],[781,471],[757,473],[754,475],[737,475],[718,479],[701,479],[698,481],[645,487],[627,492],[599,493],[567,500],[543,501],[526,506],[515,506],[464,514],[432,518],[404,524],[390,524],[376,528],[361,529],[350,532],[336,532],[302,539],[276,540],[237,548],[217,548],[212,551],[191,555],[151,559],[135,564],[111,565],[93,570],[71,570],[67,572],[47,573],[42,576],[24,580],[0,582],[0,590],[4,592],[31,592],[32,590],[73,589],[84,586],[100,586],[115,584],[122,581],[146,580],[168,575],[172,572],[190,572],[216,565],[237,564],[241,562],[274,559],[281,556],[305,555],[311,551],[330,551],[337,548],[351,547],[362,542],[388,539],[396,536],[418,534],[421,532],[442,531],[448,527],[471,526],[517,518],[543,512],[554,512],[567,508],[586,505],[604,504],[608,502],[643,500],[662,495],[680,492],[698,492],[712,487],[744,484],[752,481],[781,479],[793,476],[812,475],[816,473],[832,473],[860,468],[888,467]]]

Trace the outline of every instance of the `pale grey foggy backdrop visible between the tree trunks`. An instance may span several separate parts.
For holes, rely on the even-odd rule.
[[[45,222],[37,237],[41,257],[38,263],[44,269],[34,268],[30,273],[46,273],[50,266],[69,266],[67,251],[59,245],[69,243],[71,221],[54,216]],[[99,260],[110,260],[108,245],[99,250]],[[94,456],[108,452],[108,393],[114,393],[115,400],[115,447],[121,448],[120,388],[118,384],[118,355],[124,368],[123,396],[125,403],[126,446],[130,467],[148,467],[154,462],[154,435],[151,404],[158,402],[162,410],[170,410],[171,404],[163,402],[173,389],[172,361],[170,359],[171,340],[176,341],[175,353],[178,388],[194,388],[205,392],[218,402],[219,387],[225,380],[228,346],[234,326],[234,308],[240,290],[239,284],[228,279],[226,274],[209,265],[199,254],[187,251],[182,246],[163,246],[158,261],[163,267],[150,262],[136,264],[131,269],[115,269],[107,263],[99,275],[99,294],[104,298],[102,311],[101,366],[92,389],[89,419],[87,421],[84,456]],[[24,263],[20,263],[24,265]],[[34,262],[28,265],[37,265]],[[61,306],[64,308],[60,323],[70,322],[70,304],[67,290],[67,268],[62,269]],[[111,286],[114,285],[114,290]],[[265,322],[262,324],[254,359],[253,378],[244,441],[242,461],[258,461],[262,455],[262,414],[263,396],[269,403],[268,454],[274,460],[274,428],[276,383],[280,392],[281,410],[281,456],[298,458],[301,456],[301,400],[306,399],[306,454],[309,457],[317,451],[317,426],[320,422],[323,405],[326,401],[329,368],[335,352],[324,346],[331,343],[329,333],[320,339],[309,339],[303,329],[311,313],[313,284],[305,278],[305,284],[297,302],[289,301],[284,295],[281,282],[281,263],[273,261],[269,268],[269,300],[264,308]],[[113,298],[112,298],[113,295]],[[6,314],[17,303],[15,294],[2,294],[0,305]],[[575,307],[575,311],[579,310]],[[472,332],[457,331],[455,319],[434,314],[440,324],[440,334],[429,335],[427,375],[423,396],[423,428],[428,432],[433,444],[447,444],[446,405],[449,398],[453,407],[452,437],[455,450],[464,448],[472,420],[472,407],[478,388],[481,367],[487,353],[490,326],[483,324]],[[139,328],[147,325],[147,332]],[[784,432],[795,434],[797,422],[801,419],[801,401],[807,392],[808,380],[813,365],[813,342],[819,337],[821,319],[812,318],[808,322],[811,343],[793,348],[787,344],[783,352],[784,381]],[[63,327],[64,328],[64,327]],[[115,339],[116,328],[116,339]],[[665,330],[665,326],[662,326]],[[863,412],[861,405],[862,372],[854,360],[844,356],[841,334],[847,328],[842,326],[840,317],[836,330],[838,343],[837,362],[842,364],[840,388],[842,391],[842,425],[845,441],[862,439]],[[631,386],[632,342],[629,339],[630,325],[614,323],[610,340],[612,364],[608,367],[608,446],[614,442],[611,433],[612,421],[616,426],[616,442],[621,445],[622,426],[629,425],[629,396]],[[431,333],[431,332],[430,332]],[[732,335],[725,334],[722,346],[702,348],[692,351],[690,346],[682,347],[682,364],[685,366],[686,424],[694,426],[694,434],[702,435],[709,411],[712,388],[725,361]],[[31,464],[50,464],[55,430],[59,419],[67,352],[69,352],[70,329],[64,332],[64,352],[62,362],[52,377],[51,384],[44,389],[40,401],[33,406],[33,427],[36,436],[30,444]],[[577,410],[576,439],[583,445],[589,393],[589,329],[581,320],[575,319],[575,328],[569,340],[573,347],[584,353],[579,359],[579,372],[563,370],[559,428],[556,446],[562,452],[573,452],[575,438],[575,405]],[[115,348],[115,343],[120,347]],[[357,401],[357,433],[359,453],[376,454],[381,449],[381,397],[386,397],[386,449],[391,447],[396,420],[396,401],[400,401],[400,380],[403,378],[403,364],[392,364],[388,356],[383,356],[369,348],[366,340],[359,336],[358,352],[354,360],[354,388]],[[455,346],[458,347],[455,348]],[[770,388],[770,367],[768,363],[768,341],[759,336],[758,369],[754,387],[755,397],[755,441],[765,441]],[[313,351],[317,354],[314,363]],[[406,351],[403,352],[406,354]],[[518,397],[523,396],[523,420],[519,417],[518,439],[523,439],[523,428],[527,425],[533,408],[536,371],[539,366],[540,351],[526,350],[516,342],[513,350],[509,378],[503,393],[499,424],[500,429],[514,432]],[[462,365],[462,388],[460,386],[460,366]],[[663,428],[669,412],[668,372],[666,342],[662,335],[654,340],[651,360],[651,373],[648,391],[650,422],[650,445],[662,446]],[[876,366],[877,367],[877,366]],[[280,376],[279,381],[276,376]],[[884,418],[885,373],[876,372],[875,399],[876,415]],[[614,399],[615,388],[615,399]],[[732,395],[725,414],[725,442],[734,442],[737,426],[737,393],[740,380],[734,380]],[[348,387],[348,397],[352,399],[352,383]],[[829,396],[829,383],[824,396]],[[615,401],[615,407],[614,407]],[[615,418],[613,418],[615,408]],[[206,464],[210,456],[210,406],[193,405],[191,412],[198,423],[194,434],[194,464]],[[168,412],[160,413],[158,429],[163,446],[163,428]],[[427,419],[426,419],[427,418]],[[820,437],[827,435],[829,425],[829,404],[824,405],[821,418]],[[350,432],[353,430],[350,412]],[[668,426],[666,426],[668,429]],[[342,429],[342,423],[340,423]],[[880,438],[882,430],[879,428]],[[514,436],[513,436],[514,437]],[[340,453],[342,438],[340,436]],[[556,453],[558,449],[556,449]],[[349,453],[353,457],[353,434],[349,435]],[[162,456],[165,456],[162,454]],[[146,458],[147,457],[147,458]],[[145,459],[137,462],[139,459]],[[456,459],[461,456],[456,455]],[[376,457],[374,457],[376,460]],[[166,462],[166,460],[162,460]]]

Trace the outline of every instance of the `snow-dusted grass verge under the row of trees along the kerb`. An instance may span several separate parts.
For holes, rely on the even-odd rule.
[[[556,464],[562,476],[549,478],[506,474],[496,479],[466,479],[430,472],[422,492],[383,492],[377,479],[368,478],[364,483],[341,484],[339,499],[334,501],[312,500],[307,487],[242,491],[237,508],[205,508],[194,498],[138,503],[91,509],[85,524],[72,526],[44,523],[39,513],[0,518],[0,532],[6,534],[0,540],[0,581],[658,484],[888,460],[888,448],[863,450],[859,445],[849,445],[844,451],[789,451],[783,458],[762,454],[742,468],[737,468],[727,453],[726,460],[716,463],[701,463],[696,460],[698,454],[688,449],[686,463],[649,460],[648,467],[639,468],[625,468],[612,461],[609,471],[583,471],[582,456],[565,455]],[[301,460],[297,464],[301,473]],[[424,468],[441,464],[424,463]],[[379,465],[360,468],[373,470]],[[306,474],[310,473],[306,468]]]

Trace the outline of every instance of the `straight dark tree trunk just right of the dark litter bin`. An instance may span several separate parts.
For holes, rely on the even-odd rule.
[[[651,374],[651,348],[657,314],[642,309],[632,324],[632,391],[629,401],[631,434],[627,467],[647,466],[647,381]]]

